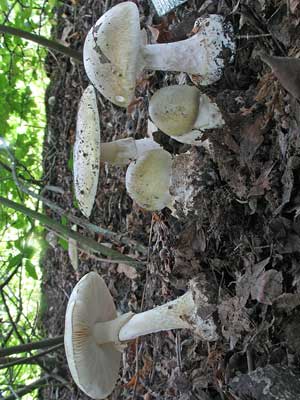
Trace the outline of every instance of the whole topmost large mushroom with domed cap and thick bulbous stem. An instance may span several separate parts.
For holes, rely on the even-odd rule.
[[[199,75],[202,85],[222,76],[226,60],[235,51],[233,30],[221,15],[199,19],[198,32],[174,43],[144,44],[137,6],[117,4],[87,34],[83,60],[95,87],[112,103],[131,102],[137,77],[143,69],[182,71]]]

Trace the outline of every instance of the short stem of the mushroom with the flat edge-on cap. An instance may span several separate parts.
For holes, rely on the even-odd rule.
[[[151,139],[119,139],[101,145],[101,161],[113,165],[127,165],[139,158],[146,151],[160,148],[160,145]]]

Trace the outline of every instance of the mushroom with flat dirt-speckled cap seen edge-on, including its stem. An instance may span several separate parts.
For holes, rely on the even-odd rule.
[[[89,217],[96,196],[100,160],[126,165],[159,144],[149,138],[126,138],[101,143],[96,91],[88,86],[80,99],[74,144],[75,196],[82,213]]]

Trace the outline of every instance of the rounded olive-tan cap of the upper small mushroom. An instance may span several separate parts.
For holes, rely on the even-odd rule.
[[[170,136],[190,132],[199,112],[200,91],[195,86],[173,85],[158,90],[149,103],[154,124]]]

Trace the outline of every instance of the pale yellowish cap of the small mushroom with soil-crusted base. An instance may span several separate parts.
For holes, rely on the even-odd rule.
[[[170,206],[172,162],[171,154],[163,149],[149,150],[131,162],[126,172],[130,197],[150,211]]]

